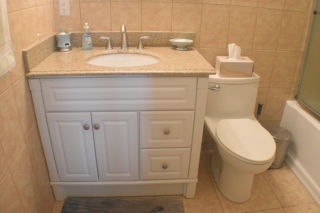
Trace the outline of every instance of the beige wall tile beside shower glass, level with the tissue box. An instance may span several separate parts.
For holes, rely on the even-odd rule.
[[[276,52],[270,87],[291,87],[297,59],[297,52]]]

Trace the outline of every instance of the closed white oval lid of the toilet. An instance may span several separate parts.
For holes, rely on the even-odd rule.
[[[250,119],[223,119],[216,127],[216,137],[230,154],[247,162],[263,164],[275,153],[272,136],[260,124]]]

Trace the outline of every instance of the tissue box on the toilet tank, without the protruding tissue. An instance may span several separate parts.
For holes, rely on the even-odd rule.
[[[228,59],[227,56],[216,56],[215,72],[220,77],[251,77],[253,61],[243,56],[240,60]]]

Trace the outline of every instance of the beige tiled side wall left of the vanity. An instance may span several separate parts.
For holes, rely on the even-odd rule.
[[[49,184],[21,51],[55,32],[52,0],[6,0],[16,65],[0,77],[0,212],[50,213]]]

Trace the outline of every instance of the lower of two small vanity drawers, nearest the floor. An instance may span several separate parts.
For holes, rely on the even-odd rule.
[[[187,178],[191,148],[140,149],[140,179]]]

